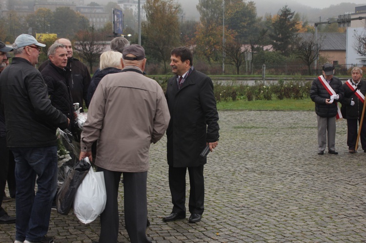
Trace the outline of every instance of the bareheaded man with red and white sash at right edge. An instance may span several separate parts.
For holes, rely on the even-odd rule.
[[[347,146],[348,152],[355,153],[356,140],[358,135],[357,123],[361,121],[362,109],[365,102],[366,81],[361,80],[362,70],[360,68],[352,69],[352,79],[348,79],[343,84],[345,97],[342,100],[342,105],[346,106],[347,117]],[[361,146],[366,152],[366,122],[362,122],[360,133]]]

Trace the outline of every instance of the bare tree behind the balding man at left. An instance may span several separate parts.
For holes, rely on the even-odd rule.
[[[93,73],[93,63],[98,62],[104,50],[102,35],[96,32],[94,26],[80,31],[75,37],[74,49],[79,56],[89,63],[90,73]]]

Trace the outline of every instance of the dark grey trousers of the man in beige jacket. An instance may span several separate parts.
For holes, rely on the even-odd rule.
[[[123,173],[124,222],[131,243],[151,243],[146,237],[147,171],[120,172],[98,167],[103,171],[107,202],[101,214],[99,243],[117,243],[120,225],[118,212],[118,189]]]

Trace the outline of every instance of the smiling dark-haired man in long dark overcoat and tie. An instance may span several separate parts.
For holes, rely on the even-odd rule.
[[[166,99],[170,112],[167,134],[169,187],[172,213],[163,221],[185,218],[185,174],[188,168],[190,223],[201,221],[204,209],[203,165],[200,153],[206,145],[212,151],[219,140],[219,114],[211,79],[192,66],[193,55],[186,47],[171,52],[172,72]]]

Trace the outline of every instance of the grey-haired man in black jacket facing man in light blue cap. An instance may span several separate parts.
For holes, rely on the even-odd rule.
[[[48,48],[47,56],[50,61],[42,70],[41,75],[47,85],[51,104],[70,119],[68,129],[73,131],[73,100],[68,78],[70,70],[65,69],[67,65],[66,47],[62,44],[52,44]]]

